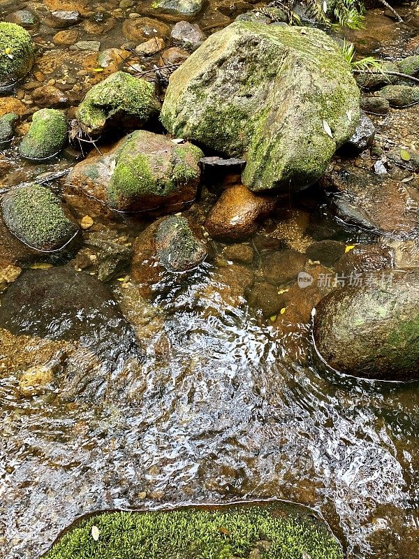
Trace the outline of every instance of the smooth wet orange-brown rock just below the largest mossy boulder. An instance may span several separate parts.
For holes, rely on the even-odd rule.
[[[258,221],[275,207],[272,196],[256,196],[243,184],[229,187],[214,204],[205,228],[214,239],[241,240],[253,235]]]

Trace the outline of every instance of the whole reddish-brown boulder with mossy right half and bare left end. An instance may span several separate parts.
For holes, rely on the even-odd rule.
[[[66,196],[81,192],[120,212],[178,211],[196,196],[201,157],[203,152],[191,143],[136,130],[103,157],[76,165],[68,175]]]

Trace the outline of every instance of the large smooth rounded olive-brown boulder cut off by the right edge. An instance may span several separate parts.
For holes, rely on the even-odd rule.
[[[316,306],[314,341],[347,375],[419,379],[419,270],[385,270],[332,291]]]

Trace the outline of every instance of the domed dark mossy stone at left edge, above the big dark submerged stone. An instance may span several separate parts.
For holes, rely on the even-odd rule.
[[[78,226],[68,219],[57,196],[38,184],[8,191],[1,210],[13,235],[37,250],[59,250],[78,233]]]

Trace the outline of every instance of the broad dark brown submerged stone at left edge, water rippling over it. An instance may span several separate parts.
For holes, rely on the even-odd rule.
[[[26,270],[1,301],[1,328],[16,335],[79,340],[110,349],[133,344],[133,331],[105,284],[69,266]]]

